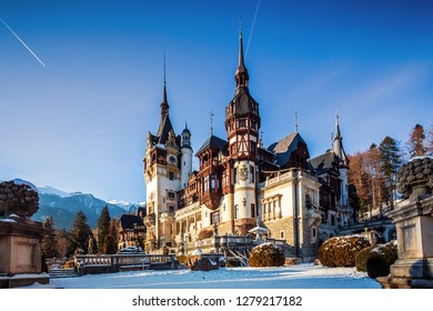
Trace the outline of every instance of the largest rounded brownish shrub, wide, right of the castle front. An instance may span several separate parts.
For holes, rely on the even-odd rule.
[[[354,267],[356,254],[367,247],[362,235],[331,238],[319,248],[319,260],[324,267]]]

